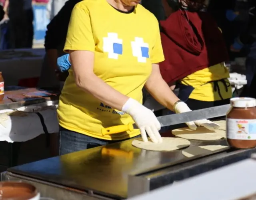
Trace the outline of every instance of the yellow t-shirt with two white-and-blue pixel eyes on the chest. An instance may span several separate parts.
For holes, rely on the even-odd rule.
[[[142,102],[142,88],[153,63],[164,60],[158,21],[141,5],[122,13],[106,0],[84,0],[72,11],[64,51],[95,53],[94,73],[122,94]],[[78,88],[72,67],[58,106],[63,128],[105,140],[122,140],[139,130],[102,136],[102,128],[133,122]]]

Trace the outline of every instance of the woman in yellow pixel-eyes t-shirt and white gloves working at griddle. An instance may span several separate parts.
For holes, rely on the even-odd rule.
[[[162,142],[160,123],[142,106],[142,88],[177,113],[190,111],[162,79],[158,21],[140,0],[86,0],[72,11],[64,51],[72,67],[58,106],[60,154],[141,134]],[[138,130],[103,136],[102,128],[135,122]],[[208,120],[187,123],[209,129]]]

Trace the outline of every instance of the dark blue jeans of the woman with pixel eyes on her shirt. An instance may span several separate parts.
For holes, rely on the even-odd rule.
[[[124,140],[102,140],[60,127],[60,156],[120,141]]]

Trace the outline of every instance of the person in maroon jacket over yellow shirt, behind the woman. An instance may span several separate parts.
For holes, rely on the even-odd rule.
[[[180,89],[179,98],[192,110],[228,104],[232,97],[225,66],[228,51],[214,18],[201,11],[206,0],[179,0],[178,10],[162,1],[167,16],[160,21],[162,77]]]

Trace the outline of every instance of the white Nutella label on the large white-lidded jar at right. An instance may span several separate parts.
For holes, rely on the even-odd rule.
[[[256,120],[227,119],[227,138],[256,140]]]

